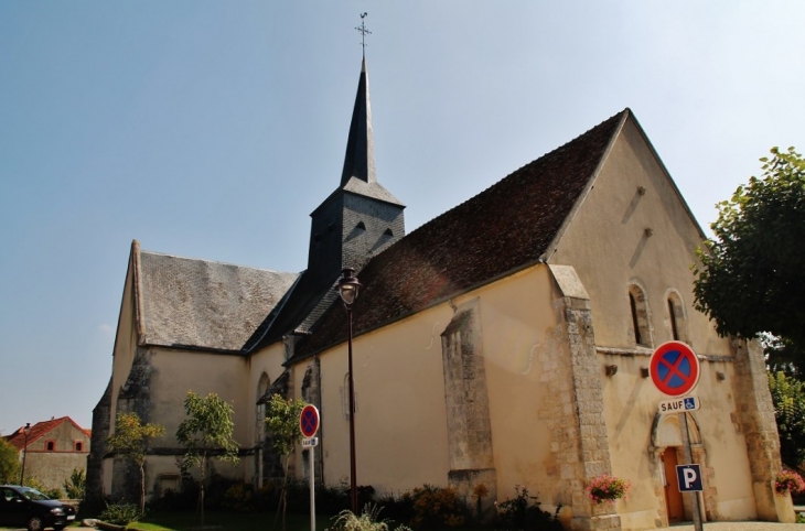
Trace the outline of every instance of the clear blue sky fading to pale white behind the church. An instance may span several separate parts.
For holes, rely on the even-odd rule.
[[[0,434],[92,425],[131,241],[307,267],[361,69],[411,231],[630,107],[698,223],[805,149],[805,2],[3,0]]]

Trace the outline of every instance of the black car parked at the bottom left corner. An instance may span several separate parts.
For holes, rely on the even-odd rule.
[[[24,528],[40,531],[66,528],[75,520],[75,509],[52,500],[36,489],[0,485],[0,528]]]

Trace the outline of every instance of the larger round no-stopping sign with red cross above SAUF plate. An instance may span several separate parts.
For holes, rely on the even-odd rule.
[[[661,392],[681,397],[693,391],[699,382],[699,358],[681,342],[659,345],[648,366],[652,381]]]

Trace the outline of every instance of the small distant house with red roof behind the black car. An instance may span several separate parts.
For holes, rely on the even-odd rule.
[[[90,435],[69,416],[62,416],[33,424],[28,437],[20,427],[3,438],[17,447],[20,460],[25,452],[25,477],[35,477],[54,489],[64,488],[75,468],[86,468]]]

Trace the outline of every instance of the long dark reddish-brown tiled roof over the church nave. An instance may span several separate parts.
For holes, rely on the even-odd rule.
[[[619,112],[372,259],[358,275],[364,289],[354,304],[355,332],[404,318],[536,263],[630,115],[630,109]],[[346,340],[341,306],[336,302],[330,307],[289,362]]]

